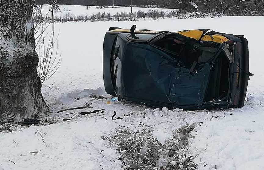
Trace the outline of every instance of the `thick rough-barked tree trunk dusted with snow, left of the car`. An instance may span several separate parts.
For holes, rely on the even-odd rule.
[[[45,115],[31,22],[34,0],[0,0],[0,122]]]

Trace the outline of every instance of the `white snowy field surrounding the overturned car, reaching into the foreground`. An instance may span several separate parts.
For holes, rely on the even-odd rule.
[[[184,151],[186,155],[182,157],[192,155],[196,169],[263,170],[263,23],[264,17],[220,17],[55,24],[59,33],[58,48],[62,53],[62,64],[42,87],[43,96],[52,109],[49,119],[55,123],[0,133],[0,170],[121,170],[118,141],[106,140],[118,136],[119,130],[130,131],[131,139],[137,133],[146,131],[161,146],[166,146],[174,140],[177,129],[193,124],[196,127],[190,132],[187,150]],[[249,43],[250,71],[255,76],[249,81],[244,108],[170,111],[134,103],[108,105],[111,97],[103,90],[104,34],[111,26],[130,28],[133,24],[137,25],[137,29],[178,31],[209,28],[245,35]],[[90,95],[103,95],[107,99],[94,99]],[[92,108],[78,112],[105,110],[89,115],[80,115],[77,110],[56,113],[60,109],[86,103]],[[114,111],[117,112],[116,117],[124,119],[112,120]],[[133,114],[128,116],[130,113]],[[63,118],[72,120],[62,121]],[[175,160],[160,154],[156,164],[158,169],[162,166],[161,161],[172,164]]]

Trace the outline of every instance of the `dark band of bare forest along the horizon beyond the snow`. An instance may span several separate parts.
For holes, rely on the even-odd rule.
[[[36,0],[37,4],[47,4],[52,0]],[[53,0],[58,4],[99,6],[129,6],[131,0]],[[175,8],[205,13],[219,12],[231,16],[263,16],[264,0],[132,0],[133,6]]]

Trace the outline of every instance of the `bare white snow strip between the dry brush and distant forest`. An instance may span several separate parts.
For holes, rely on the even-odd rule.
[[[91,16],[92,14],[97,13],[105,13],[110,15],[115,15],[117,13],[129,13],[131,12],[130,7],[109,7],[109,8],[98,8],[96,6],[81,6],[81,5],[58,5],[60,11],[55,12],[54,16],[57,17],[66,17],[68,16]],[[138,11],[148,12],[149,10],[157,10],[163,12],[176,11],[177,9],[166,9],[166,8],[143,8],[143,7],[133,7],[133,13]],[[49,5],[42,5],[43,15],[48,14],[51,16],[51,12],[49,12]]]

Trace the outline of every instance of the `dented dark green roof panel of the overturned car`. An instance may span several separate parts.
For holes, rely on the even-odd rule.
[[[202,105],[210,64],[200,64],[195,73],[189,73],[166,53],[147,44],[133,43],[128,44],[122,60],[125,98]]]

